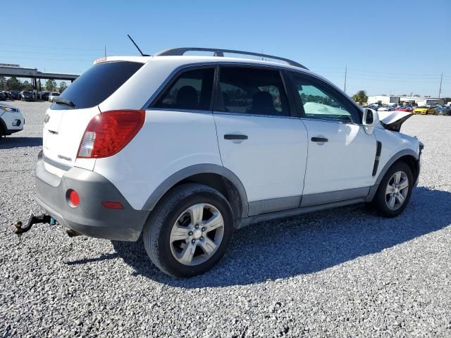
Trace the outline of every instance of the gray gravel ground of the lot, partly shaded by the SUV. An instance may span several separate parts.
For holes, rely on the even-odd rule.
[[[0,144],[2,337],[450,337],[451,117],[414,116],[426,145],[399,218],[363,206],[247,227],[205,275],[160,273],[142,244],[67,237],[14,220],[40,213],[33,169],[48,103],[14,104]]]

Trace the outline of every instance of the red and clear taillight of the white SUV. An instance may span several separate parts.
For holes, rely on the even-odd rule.
[[[79,158],[101,158],[117,154],[144,125],[145,111],[106,111],[94,116],[86,127]]]

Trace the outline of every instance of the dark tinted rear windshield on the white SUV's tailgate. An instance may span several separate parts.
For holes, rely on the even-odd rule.
[[[97,106],[116,92],[142,65],[143,63],[130,61],[98,63],[70,84],[60,97],[72,101],[76,109]],[[53,106],[63,105],[55,103]]]

